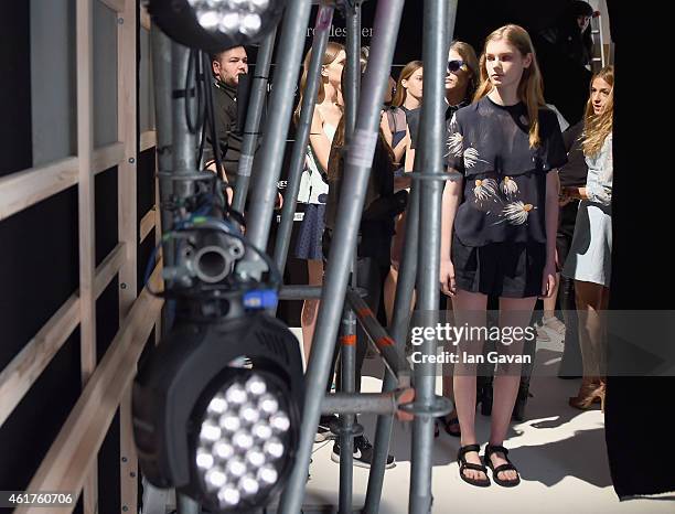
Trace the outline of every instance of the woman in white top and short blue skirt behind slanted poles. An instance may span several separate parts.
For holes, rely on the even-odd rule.
[[[310,50],[304,57],[304,67],[300,79],[300,99],[294,113],[296,121],[300,117],[311,58],[312,51]],[[343,103],[340,81],[345,58],[344,46],[340,43],[329,42],[323,53],[317,106],[312,114],[310,143],[307,149],[306,168],[302,172],[298,193],[298,203],[306,204],[306,207],[294,256],[307,260],[310,286],[320,286],[323,281],[321,237],[323,235],[325,202],[329,191],[326,172],[331,143],[338,124],[342,118]],[[319,300],[306,300],[302,306],[301,325],[306,362],[309,362],[318,309]]]

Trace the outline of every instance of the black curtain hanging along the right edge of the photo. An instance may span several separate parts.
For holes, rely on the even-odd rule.
[[[650,170],[669,181],[667,172],[661,175],[663,152],[667,148],[658,138],[663,131],[654,127],[660,116],[636,95],[646,92],[651,79],[635,74],[635,58],[640,67],[656,71],[656,54],[642,52],[646,44],[638,39],[628,2],[608,0],[612,40],[615,43],[614,86],[614,188],[613,188],[613,247],[610,309],[660,310],[673,309],[674,282],[672,251],[660,248],[666,232],[661,227],[672,218],[671,203],[650,200],[636,192],[640,183],[646,185]],[[655,21],[657,17],[650,17]],[[651,26],[653,34],[658,32]],[[633,50],[633,57],[630,51]],[[639,56],[636,54],[640,54]],[[665,98],[663,98],[665,99]],[[638,125],[645,130],[638,129]],[[660,136],[661,133],[661,136]],[[653,149],[654,151],[651,151]],[[656,178],[656,176],[655,176]],[[653,228],[654,235],[650,233]],[[667,229],[671,233],[671,229]],[[666,236],[667,237],[667,236]],[[666,342],[666,344],[673,342]],[[610,351],[611,351],[610,342]],[[657,340],[653,344],[658,344]],[[621,500],[633,496],[675,491],[675,445],[669,425],[673,406],[673,377],[608,377],[606,403],[606,437],[614,490]]]

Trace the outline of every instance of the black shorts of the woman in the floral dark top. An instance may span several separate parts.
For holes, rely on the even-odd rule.
[[[505,298],[538,297],[546,245],[506,242],[464,246],[453,236],[452,265],[458,289]]]

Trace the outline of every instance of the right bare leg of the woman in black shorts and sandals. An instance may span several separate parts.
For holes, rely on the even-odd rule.
[[[522,333],[527,333],[525,330],[529,325],[532,311],[534,309],[536,297],[531,298],[500,298],[500,326],[502,333],[504,329],[521,329]],[[523,354],[523,339],[514,341],[511,344],[505,335],[501,342],[496,343],[496,351],[500,355],[517,356]],[[511,422],[513,406],[515,405],[518,394],[518,385],[521,384],[521,367],[519,363],[497,364],[494,374],[492,404],[492,424],[490,427],[490,445],[502,446]],[[491,458],[493,465],[505,464],[506,460],[501,453],[492,453]],[[502,480],[515,480],[517,473],[513,470],[503,471],[500,473]]]

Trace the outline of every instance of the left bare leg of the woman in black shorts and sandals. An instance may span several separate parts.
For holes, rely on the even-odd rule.
[[[458,289],[452,297],[452,308],[457,326],[467,323],[469,326],[485,326],[488,308],[488,297],[478,292],[462,291]],[[459,362],[454,365],[454,407],[460,421],[462,431],[461,445],[475,445],[475,364],[467,364],[461,358],[462,353],[480,355],[481,344],[478,341],[460,342],[457,351],[460,355]],[[468,452],[467,462],[482,464],[480,456],[475,451]],[[468,479],[485,479],[485,473],[475,470],[465,470]]]

